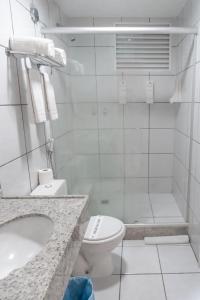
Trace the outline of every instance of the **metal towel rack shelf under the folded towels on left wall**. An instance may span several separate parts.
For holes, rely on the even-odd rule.
[[[24,52],[16,52],[16,51],[12,51],[10,49],[6,49],[6,54],[9,55],[13,55],[16,58],[30,58],[31,62],[35,65],[39,65],[39,66],[48,66],[48,67],[64,67],[62,64],[60,64],[58,61],[56,61],[55,59],[49,57],[49,56],[45,56],[45,55],[39,55],[36,53],[24,53]]]

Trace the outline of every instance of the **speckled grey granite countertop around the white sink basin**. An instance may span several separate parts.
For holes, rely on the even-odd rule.
[[[70,249],[76,240],[73,238],[74,230],[83,223],[81,217],[87,211],[87,204],[87,196],[0,199],[0,225],[17,217],[34,214],[45,215],[54,222],[53,233],[41,252],[24,267],[0,280],[1,300],[57,300],[56,296],[53,298],[47,295],[50,295],[55,275],[58,282],[63,279],[66,249]],[[83,234],[79,239],[83,238]],[[81,241],[77,245],[78,253]],[[72,257],[69,259],[72,260]],[[71,268],[74,262],[70,261]],[[67,282],[64,284],[66,286]]]

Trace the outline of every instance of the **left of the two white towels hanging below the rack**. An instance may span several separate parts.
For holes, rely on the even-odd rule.
[[[31,100],[35,114],[35,122],[41,123],[46,121],[45,100],[42,90],[41,74],[37,69],[29,69],[29,83],[31,90]]]

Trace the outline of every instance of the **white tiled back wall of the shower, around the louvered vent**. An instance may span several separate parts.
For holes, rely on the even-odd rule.
[[[150,19],[151,23],[171,21]],[[72,18],[66,25],[121,22],[148,23],[149,19]],[[74,190],[87,192],[94,183],[95,212],[119,218],[125,213],[126,222],[150,217],[145,194],[172,192],[176,106],[169,98],[175,87],[175,47],[170,72],[124,73],[128,101],[121,105],[122,74],[115,70],[115,36],[76,35],[69,37],[68,45],[78,172]],[[145,102],[149,78],[155,85],[152,105]],[[131,219],[127,220],[130,207]]]

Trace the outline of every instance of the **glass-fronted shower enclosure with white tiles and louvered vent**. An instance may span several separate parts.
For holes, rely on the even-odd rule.
[[[113,26],[95,22],[87,25]],[[67,179],[71,194],[90,195],[93,215],[127,224],[186,222],[194,103],[192,90],[190,96],[184,90],[187,78],[177,55],[182,36],[74,32],[62,35],[67,106],[58,108],[70,130],[64,148],[56,141],[57,176]],[[191,55],[196,37],[188,38]]]

